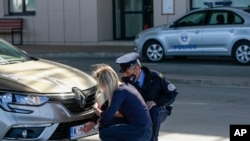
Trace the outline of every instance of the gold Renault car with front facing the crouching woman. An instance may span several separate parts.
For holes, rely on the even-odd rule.
[[[31,57],[0,39],[0,140],[76,139],[94,111],[87,73]]]

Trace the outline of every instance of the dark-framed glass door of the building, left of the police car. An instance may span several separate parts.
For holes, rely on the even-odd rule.
[[[138,32],[145,27],[152,26],[153,6],[148,6],[152,4],[152,1],[114,0],[114,39],[134,39]]]

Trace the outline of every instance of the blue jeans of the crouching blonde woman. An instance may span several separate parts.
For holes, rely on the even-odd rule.
[[[149,141],[151,128],[138,127],[130,124],[117,124],[99,131],[102,141]]]

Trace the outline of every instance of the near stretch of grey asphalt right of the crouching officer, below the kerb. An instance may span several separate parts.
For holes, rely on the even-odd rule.
[[[232,124],[250,124],[250,88],[177,85],[172,115],[159,141],[229,141]],[[78,141],[99,141],[98,135]],[[240,141],[240,140],[239,140]]]

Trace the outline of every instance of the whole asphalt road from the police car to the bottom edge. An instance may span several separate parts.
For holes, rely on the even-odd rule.
[[[87,73],[90,73],[91,65],[97,63],[106,63],[119,70],[112,57],[44,58]],[[239,66],[230,59],[169,60],[162,63],[143,61],[142,64],[172,78],[179,91],[173,114],[162,124],[159,141],[229,141],[231,124],[250,124],[250,86],[248,83],[239,85],[248,82],[249,66]],[[175,77],[186,81],[176,81]],[[208,79],[210,83],[201,81]],[[95,135],[78,141],[98,140],[98,135]]]

